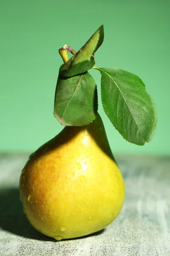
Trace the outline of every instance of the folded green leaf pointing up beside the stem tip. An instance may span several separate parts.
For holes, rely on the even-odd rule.
[[[73,57],[59,69],[60,76],[71,77],[86,72],[94,64],[94,53],[104,39],[103,25],[96,30],[88,42]]]

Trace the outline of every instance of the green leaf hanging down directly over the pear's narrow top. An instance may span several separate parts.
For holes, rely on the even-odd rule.
[[[88,72],[71,78],[58,77],[54,116],[62,125],[87,125],[96,118],[97,108],[96,83]]]

